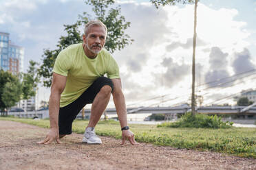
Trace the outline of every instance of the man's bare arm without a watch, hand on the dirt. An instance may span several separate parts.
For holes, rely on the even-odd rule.
[[[40,141],[39,144],[50,144],[54,140],[56,140],[57,143],[61,143],[58,134],[58,112],[60,108],[61,93],[65,88],[66,81],[66,76],[53,73],[51,95],[49,99],[50,130],[45,136],[45,139]]]

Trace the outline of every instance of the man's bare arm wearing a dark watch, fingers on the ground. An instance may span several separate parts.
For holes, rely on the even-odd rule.
[[[121,127],[127,126],[127,112],[125,106],[125,96],[122,93],[122,84],[121,80],[119,79],[112,79],[114,84],[114,90],[112,92],[114,104],[116,106],[116,112],[118,114],[118,119],[120,121]],[[125,144],[126,140],[132,145],[138,145],[134,138],[134,133],[130,130],[122,130],[122,145]]]

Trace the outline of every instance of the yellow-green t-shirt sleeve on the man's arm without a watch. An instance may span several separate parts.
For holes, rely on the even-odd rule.
[[[67,53],[65,53],[65,50],[64,50],[58,54],[54,63],[53,72],[60,75],[67,76],[67,73],[70,70],[71,66],[72,66],[72,61],[67,56]]]

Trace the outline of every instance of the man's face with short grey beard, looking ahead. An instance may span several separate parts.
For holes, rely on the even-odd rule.
[[[97,54],[105,45],[106,32],[104,27],[92,26],[89,28],[87,37],[83,36],[83,42],[87,49],[94,54]]]

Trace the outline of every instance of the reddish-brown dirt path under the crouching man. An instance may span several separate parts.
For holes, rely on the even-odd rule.
[[[38,145],[47,129],[0,121],[0,169],[256,169],[256,160],[219,153],[120,145],[101,137],[102,145],[81,143],[82,134],[63,138],[61,145]]]

